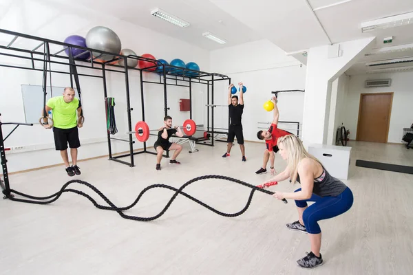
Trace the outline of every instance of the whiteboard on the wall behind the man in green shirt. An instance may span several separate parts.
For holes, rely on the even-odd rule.
[[[52,86],[52,92],[50,92],[50,86],[46,87],[46,102],[51,96],[62,96],[65,87]],[[78,98],[77,89],[75,97]],[[43,87],[40,85],[21,85],[21,96],[23,97],[24,117],[26,123],[39,123],[39,118],[43,116]],[[49,113],[52,117],[52,114]]]

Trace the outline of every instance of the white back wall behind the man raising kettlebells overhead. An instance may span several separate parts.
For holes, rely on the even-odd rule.
[[[213,72],[226,74],[235,85],[242,82],[247,87],[242,115],[245,140],[259,141],[256,135],[259,130],[257,122],[273,120],[273,112],[267,112],[263,108],[264,102],[273,96],[271,91],[304,89],[306,67],[299,64],[295,58],[286,56],[284,51],[266,40],[211,52]],[[228,83],[220,83],[215,87],[214,104],[228,104],[227,87]],[[279,120],[302,122],[303,104],[303,93],[279,94]],[[227,128],[228,108],[217,108],[215,115],[217,113],[222,119],[215,122],[215,126]],[[288,129],[289,126],[280,124],[279,127]]]

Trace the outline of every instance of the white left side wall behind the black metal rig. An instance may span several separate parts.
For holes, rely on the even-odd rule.
[[[63,41],[65,37],[71,34],[85,36],[87,31],[95,25],[104,25],[118,34],[122,41],[122,48],[130,48],[138,55],[151,53],[156,58],[164,58],[167,61],[171,61],[173,58],[181,58],[186,63],[194,61],[200,65],[201,70],[209,72],[209,52],[206,50],[202,50],[169,36],[140,28],[137,25],[132,25],[125,21],[111,17],[103,17],[102,14],[94,12],[93,10],[86,10],[84,8],[75,10],[75,8],[70,7],[70,5],[63,6],[62,4],[61,10],[51,11],[42,5],[43,1],[38,2],[39,5],[34,5],[34,1],[13,2],[12,5],[14,6],[10,9],[10,13],[12,14],[6,14],[3,17],[0,21],[0,28],[31,35],[42,34],[41,36],[47,39]],[[35,7],[36,10],[34,10]],[[42,18],[50,18],[50,12],[57,12],[53,16],[55,20],[51,18],[49,23],[45,21],[34,24],[35,21],[39,21]],[[12,20],[17,18],[19,19],[18,21]],[[68,21],[63,20],[67,18],[70,18],[72,23],[67,23]],[[41,28],[39,27],[39,31],[36,31],[33,29],[33,25],[38,25]],[[4,41],[4,38],[5,36],[1,36],[0,41]],[[16,41],[16,47],[26,45],[24,43],[28,43],[28,41],[21,41],[22,44],[19,43],[19,41]],[[35,47],[39,42],[34,42],[34,44]],[[30,47],[31,46],[28,45],[28,48]],[[16,58],[4,58],[3,56],[0,56],[0,62],[3,64],[21,63],[21,61]],[[37,64],[37,66],[41,68],[41,64]],[[57,66],[52,64],[52,69],[57,69]],[[90,74],[92,70],[79,68],[78,72],[87,72]],[[99,72],[96,72],[96,74],[99,74]],[[42,73],[24,69],[0,67],[0,75],[1,120],[3,122],[24,122],[21,85],[41,85]],[[47,78],[48,77],[49,76],[47,76]],[[145,73],[144,78],[146,80],[157,79],[155,75],[148,73]],[[82,146],[79,149],[78,159],[107,155],[103,82],[100,78],[80,76],[80,83],[85,124],[83,129],[80,129]],[[57,87],[70,86],[70,78],[68,75],[53,74],[52,85]],[[129,73],[129,85],[131,91],[131,107],[134,108],[131,116],[133,128],[138,120],[142,120],[140,78],[137,71]],[[194,104],[200,104],[202,98],[199,98],[199,96],[202,95],[203,91],[206,91],[207,87],[205,86],[206,85],[193,85]],[[116,100],[115,112],[118,133],[114,137],[127,138],[127,135],[125,135],[128,129],[124,75],[108,72],[107,89],[108,96],[114,97]],[[162,126],[164,117],[163,86],[145,84],[144,90],[145,120],[151,129],[158,129]],[[60,94],[61,91],[53,92],[54,96],[56,96]],[[189,98],[189,89],[186,87],[169,86],[168,104],[171,108],[169,115],[173,117],[173,123],[178,125],[189,118],[189,112],[179,111],[179,98]],[[39,106],[39,117],[42,108],[42,106]],[[203,111],[204,109],[193,106],[193,120],[195,120],[195,122],[204,119],[205,115],[202,113]],[[3,126],[5,134],[11,129],[10,126]],[[136,139],[134,138],[134,140]],[[147,146],[152,146],[153,142],[154,138],[151,137]],[[39,124],[34,126],[19,126],[17,131],[12,133],[8,140],[6,140],[6,147],[15,146],[25,146],[25,149],[30,150],[30,152],[23,152],[25,149],[21,151],[9,151],[8,168],[10,172],[62,163],[59,153],[54,151],[52,131],[43,129]],[[36,150],[40,148],[42,148],[42,150]],[[142,148],[142,144],[136,141],[134,148]],[[35,151],[31,151],[33,149],[35,149]],[[129,149],[129,145],[126,142],[115,141],[112,142],[112,149],[114,153],[123,152]]]

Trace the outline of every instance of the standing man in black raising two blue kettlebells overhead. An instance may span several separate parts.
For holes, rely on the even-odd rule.
[[[240,144],[242,161],[245,162],[245,147],[244,147],[244,135],[242,133],[241,117],[244,111],[244,93],[242,92],[242,83],[240,85],[240,102],[238,102],[238,96],[231,96],[231,89],[233,84],[228,88],[228,104],[229,104],[229,129],[228,129],[228,142],[226,147],[226,153],[222,157],[229,157],[231,147],[234,142],[234,137],[237,137],[237,143]]]

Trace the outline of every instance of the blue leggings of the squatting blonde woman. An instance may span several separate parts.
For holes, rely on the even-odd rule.
[[[298,191],[301,191],[301,188],[295,190],[295,192]],[[304,208],[307,206],[307,201],[315,201],[315,203],[304,210],[304,225],[308,233],[319,234],[321,229],[317,221],[336,217],[349,210],[353,203],[353,195],[350,188],[347,187],[337,197],[320,197],[313,194],[310,199],[295,201],[295,205],[299,208]]]

